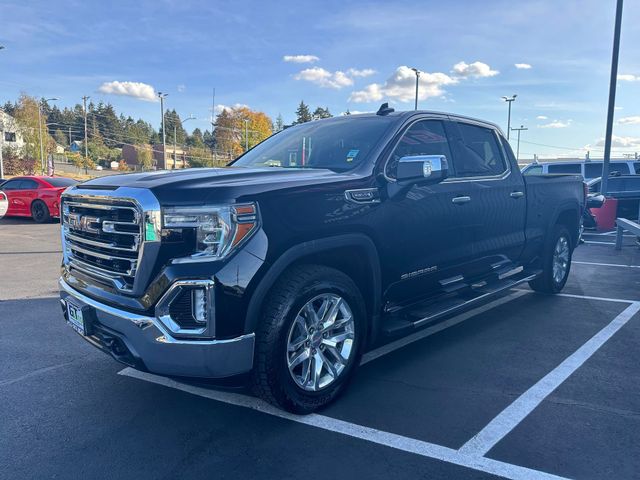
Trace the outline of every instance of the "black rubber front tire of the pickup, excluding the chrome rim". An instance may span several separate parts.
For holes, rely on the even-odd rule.
[[[348,304],[354,319],[354,339],[349,359],[333,383],[318,391],[307,391],[289,372],[289,330],[300,309],[326,293],[337,294]],[[297,414],[314,412],[335,400],[360,363],[367,330],[365,312],[358,287],[344,273],[321,265],[300,265],[285,272],[265,301],[256,331],[254,392],[269,403]]]

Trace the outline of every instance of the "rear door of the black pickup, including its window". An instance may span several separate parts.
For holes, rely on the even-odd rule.
[[[480,275],[519,259],[525,244],[526,192],[513,153],[496,129],[472,121],[457,121],[456,126],[456,178],[447,182],[464,185],[471,197],[474,262],[468,275]]]

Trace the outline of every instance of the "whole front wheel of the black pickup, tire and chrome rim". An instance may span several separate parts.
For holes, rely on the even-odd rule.
[[[366,337],[360,291],[321,265],[292,268],[266,300],[256,343],[256,393],[289,412],[332,402],[360,362]]]

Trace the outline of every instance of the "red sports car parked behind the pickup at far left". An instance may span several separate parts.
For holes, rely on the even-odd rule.
[[[7,217],[32,217],[37,223],[60,216],[60,195],[78,182],[71,178],[25,176],[15,177],[0,185],[7,196]]]

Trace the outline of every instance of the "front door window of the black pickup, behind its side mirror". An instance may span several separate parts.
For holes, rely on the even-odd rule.
[[[416,155],[444,155],[451,162],[451,149],[442,122],[422,120],[411,125],[393,151],[387,165],[387,176],[395,178],[398,160],[402,157]]]

